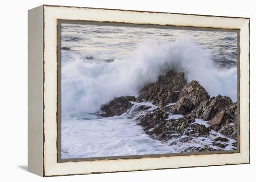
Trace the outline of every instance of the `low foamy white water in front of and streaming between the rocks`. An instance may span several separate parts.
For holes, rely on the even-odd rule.
[[[103,118],[95,114],[83,113],[79,117],[63,119],[61,123],[61,158],[189,152],[189,148],[202,148],[205,145],[217,150],[234,150],[233,143],[236,140],[227,138],[213,130],[209,132],[209,136],[200,137],[179,136],[178,133],[174,133],[173,138],[164,142],[150,138],[142,127],[137,125],[140,122],[136,119],[141,115],[151,113],[158,107],[151,102],[132,102],[132,104],[134,106],[121,116]],[[149,108],[140,110],[141,106]],[[182,117],[181,114],[169,113],[168,119]],[[166,122],[172,122],[168,119]],[[195,119],[194,123],[209,127],[208,121],[202,119]],[[150,128],[148,131],[151,132],[154,129]],[[184,141],[188,137],[190,139]],[[227,141],[218,142],[225,146],[224,149],[214,144],[218,137],[227,139]]]

